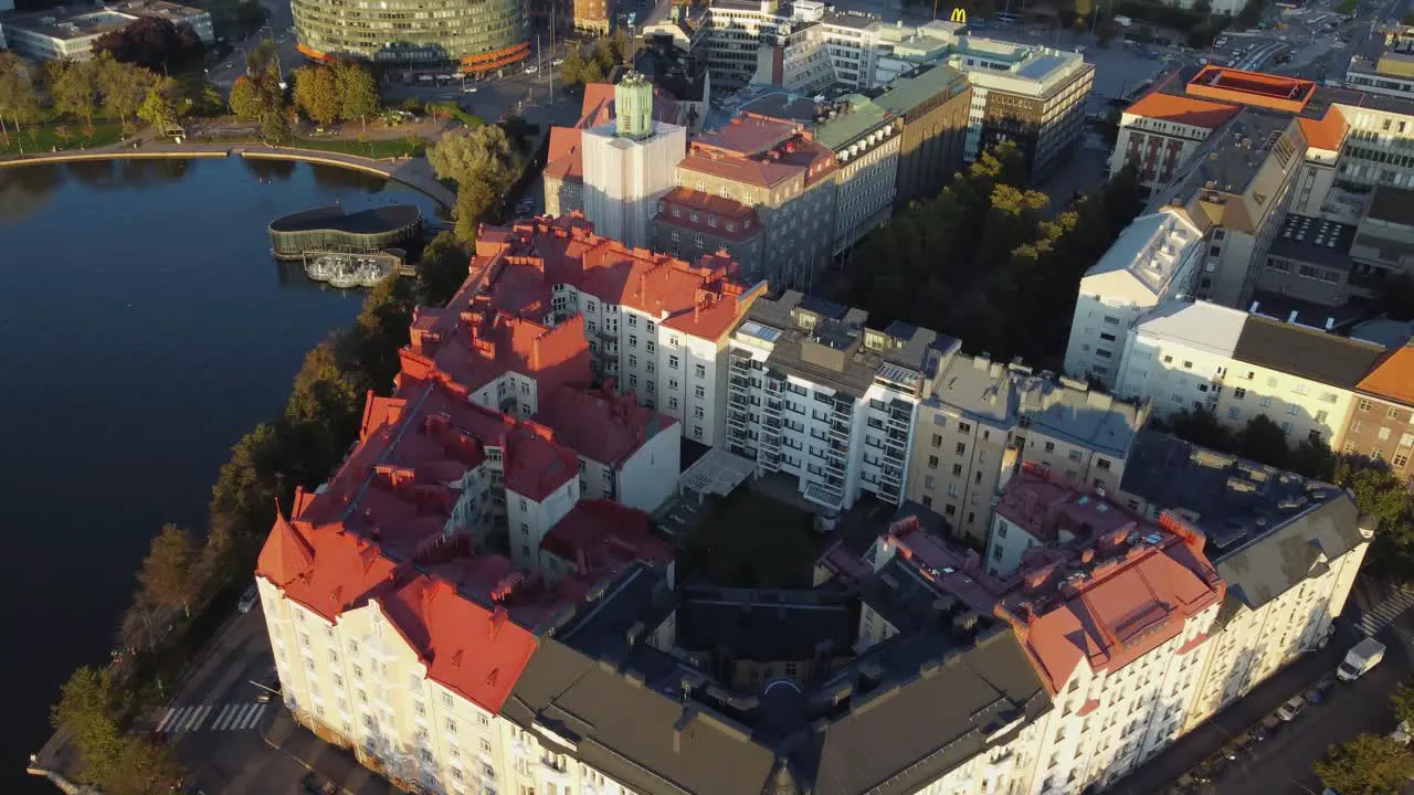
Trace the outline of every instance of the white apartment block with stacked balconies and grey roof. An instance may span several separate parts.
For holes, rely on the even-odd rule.
[[[793,478],[827,511],[864,492],[898,505],[926,379],[957,341],[788,290],[758,298],[731,335],[727,450],[758,477]]]

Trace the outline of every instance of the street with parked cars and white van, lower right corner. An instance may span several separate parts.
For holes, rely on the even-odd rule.
[[[1391,659],[1391,658],[1398,659]],[[1324,785],[1312,765],[1331,745],[1357,734],[1383,734],[1394,727],[1389,700],[1408,675],[1403,655],[1386,655],[1383,663],[1355,682],[1338,682],[1328,699],[1312,704],[1288,726],[1257,745],[1257,754],[1227,768],[1215,784],[1219,795],[1309,795]]]

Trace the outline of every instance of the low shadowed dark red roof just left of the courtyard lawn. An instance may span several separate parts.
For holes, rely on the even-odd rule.
[[[607,573],[635,560],[667,564],[673,547],[653,535],[648,513],[609,499],[581,499],[550,528],[540,549],[568,560],[581,576]]]

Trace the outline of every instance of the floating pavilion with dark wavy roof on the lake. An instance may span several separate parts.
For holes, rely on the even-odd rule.
[[[421,211],[410,204],[344,212],[321,207],[270,222],[270,253],[279,259],[304,259],[318,253],[372,255],[400,246],[419,231]]]

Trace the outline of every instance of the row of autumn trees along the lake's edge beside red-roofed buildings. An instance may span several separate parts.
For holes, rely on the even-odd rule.
[[[410,311],[406,283],[392,277],[378,284],[354,328],[305,356],[284,413],[236,443],[212,487],[205,540],[171,525],[153,539],[140,588],[117,628],[117,656],[132,663],[78,669],[51,712],[55,729],[79,750],[85,781],[110,795],[147,795],[167,792],[181,778],[168,747],[127,727],[154,706],[150,683],[163,665],[184,662],[171,652],[192,645],[182,635],[201,611],[229,608],[230,600],[215,597],[249,581],[277,502],[288,505],[296,485],[327,481],[358,436],[368,390],[392,390]]]

